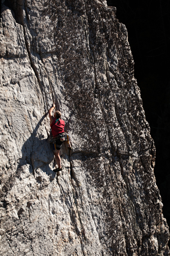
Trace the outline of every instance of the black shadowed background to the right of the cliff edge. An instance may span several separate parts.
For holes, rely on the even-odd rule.
[[[170,226],[170,0],[108,0],[125,24],[135,78],[156,145],[154,173]]]

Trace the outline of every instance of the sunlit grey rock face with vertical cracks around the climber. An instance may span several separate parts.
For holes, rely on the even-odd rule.
[[[2,256],[169,255],[155,147],[115,12],[104,0],[4,2]],[[73,146],[62,144],[58,175],[53,102]]]

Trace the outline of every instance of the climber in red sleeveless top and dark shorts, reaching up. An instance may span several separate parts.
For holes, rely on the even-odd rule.
[[[62,171],[61,158],[59,156],[59,151],[64,141],[64,138],[62,138],[62,134],[64,133],[65,122],[62,119],[60,119],[61,112],[56,111],[54,113],[54,116],[52,115],[54,108],[55,108],[55,104],[53,104],[53,107],[50,108],[48,113],[50,117],[51,133],[54,138],[56,137],[56,140],[53,141],[53,151],[54,151],[58,168],[54,169],[53,171],[59,172],[59,171]]]

